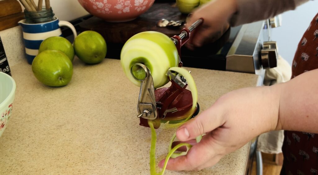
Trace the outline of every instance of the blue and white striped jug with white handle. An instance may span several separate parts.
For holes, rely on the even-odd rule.
[[[62,36],[60,26],[69,27],[73,32],[74,38],[77,36],[76,30],[71,23],[59,21],[58,18],[46,23],[28,24],[24,22],[25,20],[21,20],[18,24],[22,27],[26,59],[29,64],[32,64],[34,57],[38,55],[38,49],[43,40],[51,36]]]

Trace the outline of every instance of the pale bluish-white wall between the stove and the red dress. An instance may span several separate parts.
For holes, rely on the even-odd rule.
[[[311,20],[318,12],[318,0],[309,1],[296,10],[282,14],[282,26],[273,29],[272,40],[277,42],[278,53],[291,65],[298,43]]]

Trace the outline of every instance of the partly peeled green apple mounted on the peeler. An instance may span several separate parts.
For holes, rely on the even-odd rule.
[[[132,36],[121,49],[121,66],[128,79],[139,86],[140,81],[130,73],[135,63],[147,66],[154,80],[154,87],[162,87],[169,81],[166,73],[169,68],[179,64],[179,55],[172,40],[155,31],[146,31]],[[134,68],[132,72],[142,79],[145,74],[142,69]]]

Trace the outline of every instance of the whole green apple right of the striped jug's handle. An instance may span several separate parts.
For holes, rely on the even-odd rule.
[[[95,31],[80,33],[75,38],[74,49],[79,59],[87,64],[100,63],[107,53],[105,39]]]

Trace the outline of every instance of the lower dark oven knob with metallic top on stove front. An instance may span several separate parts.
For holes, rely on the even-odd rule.
[[[261,64],[263,69],[277,67],[277,44],[276,42],[264,42],[261,50]]]

